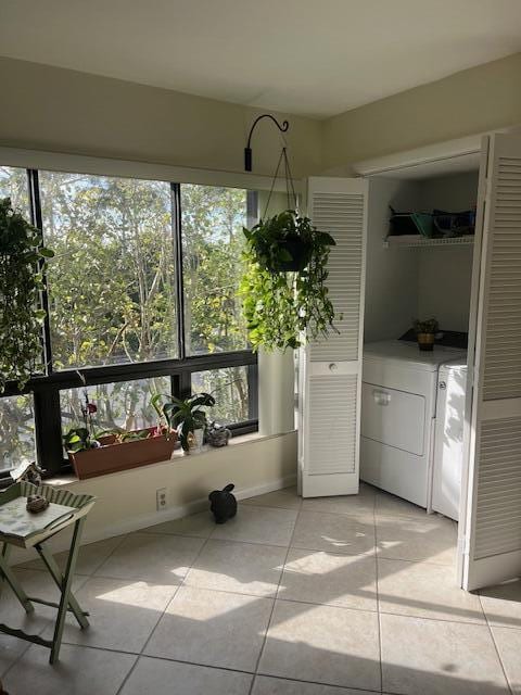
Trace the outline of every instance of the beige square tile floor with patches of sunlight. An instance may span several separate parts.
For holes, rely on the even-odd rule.
[[[292,489],[81,549],[60,664],[0,636],[11,695],[521,695],[521,581],[455,587],[456,525],[364,485]],[[29,593],[55,590],[38,561]],[[0,620],[49,634],[5,590]],[[68,622],[68,619],[67,619]]]

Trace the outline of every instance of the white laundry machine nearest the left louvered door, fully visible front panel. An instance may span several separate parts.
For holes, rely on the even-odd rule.
[[[440,365],[466,351],[385,340],[364,348],[360,478],[430,509]]]

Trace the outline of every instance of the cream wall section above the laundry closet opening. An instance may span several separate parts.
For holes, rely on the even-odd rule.
[[[327,118],[323,170],[519,123],[516,53]]]

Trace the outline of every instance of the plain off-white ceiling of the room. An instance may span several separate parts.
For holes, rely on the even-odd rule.
[[[521,0],[0,0],[1,55],[318,118],[518,51]]]

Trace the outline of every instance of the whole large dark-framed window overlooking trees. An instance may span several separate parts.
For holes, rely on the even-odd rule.
[[[238,298],[255,193],[0,167],[5,195],[55,255],[45,374],[0,397],[0,477],[35,448],[50,473],[66,466],[62,434],[81,421],[86,389],[100,429],[152,426],[153,394],[196,391],[215,395],[212,419],[256,429],[257,361]]]

